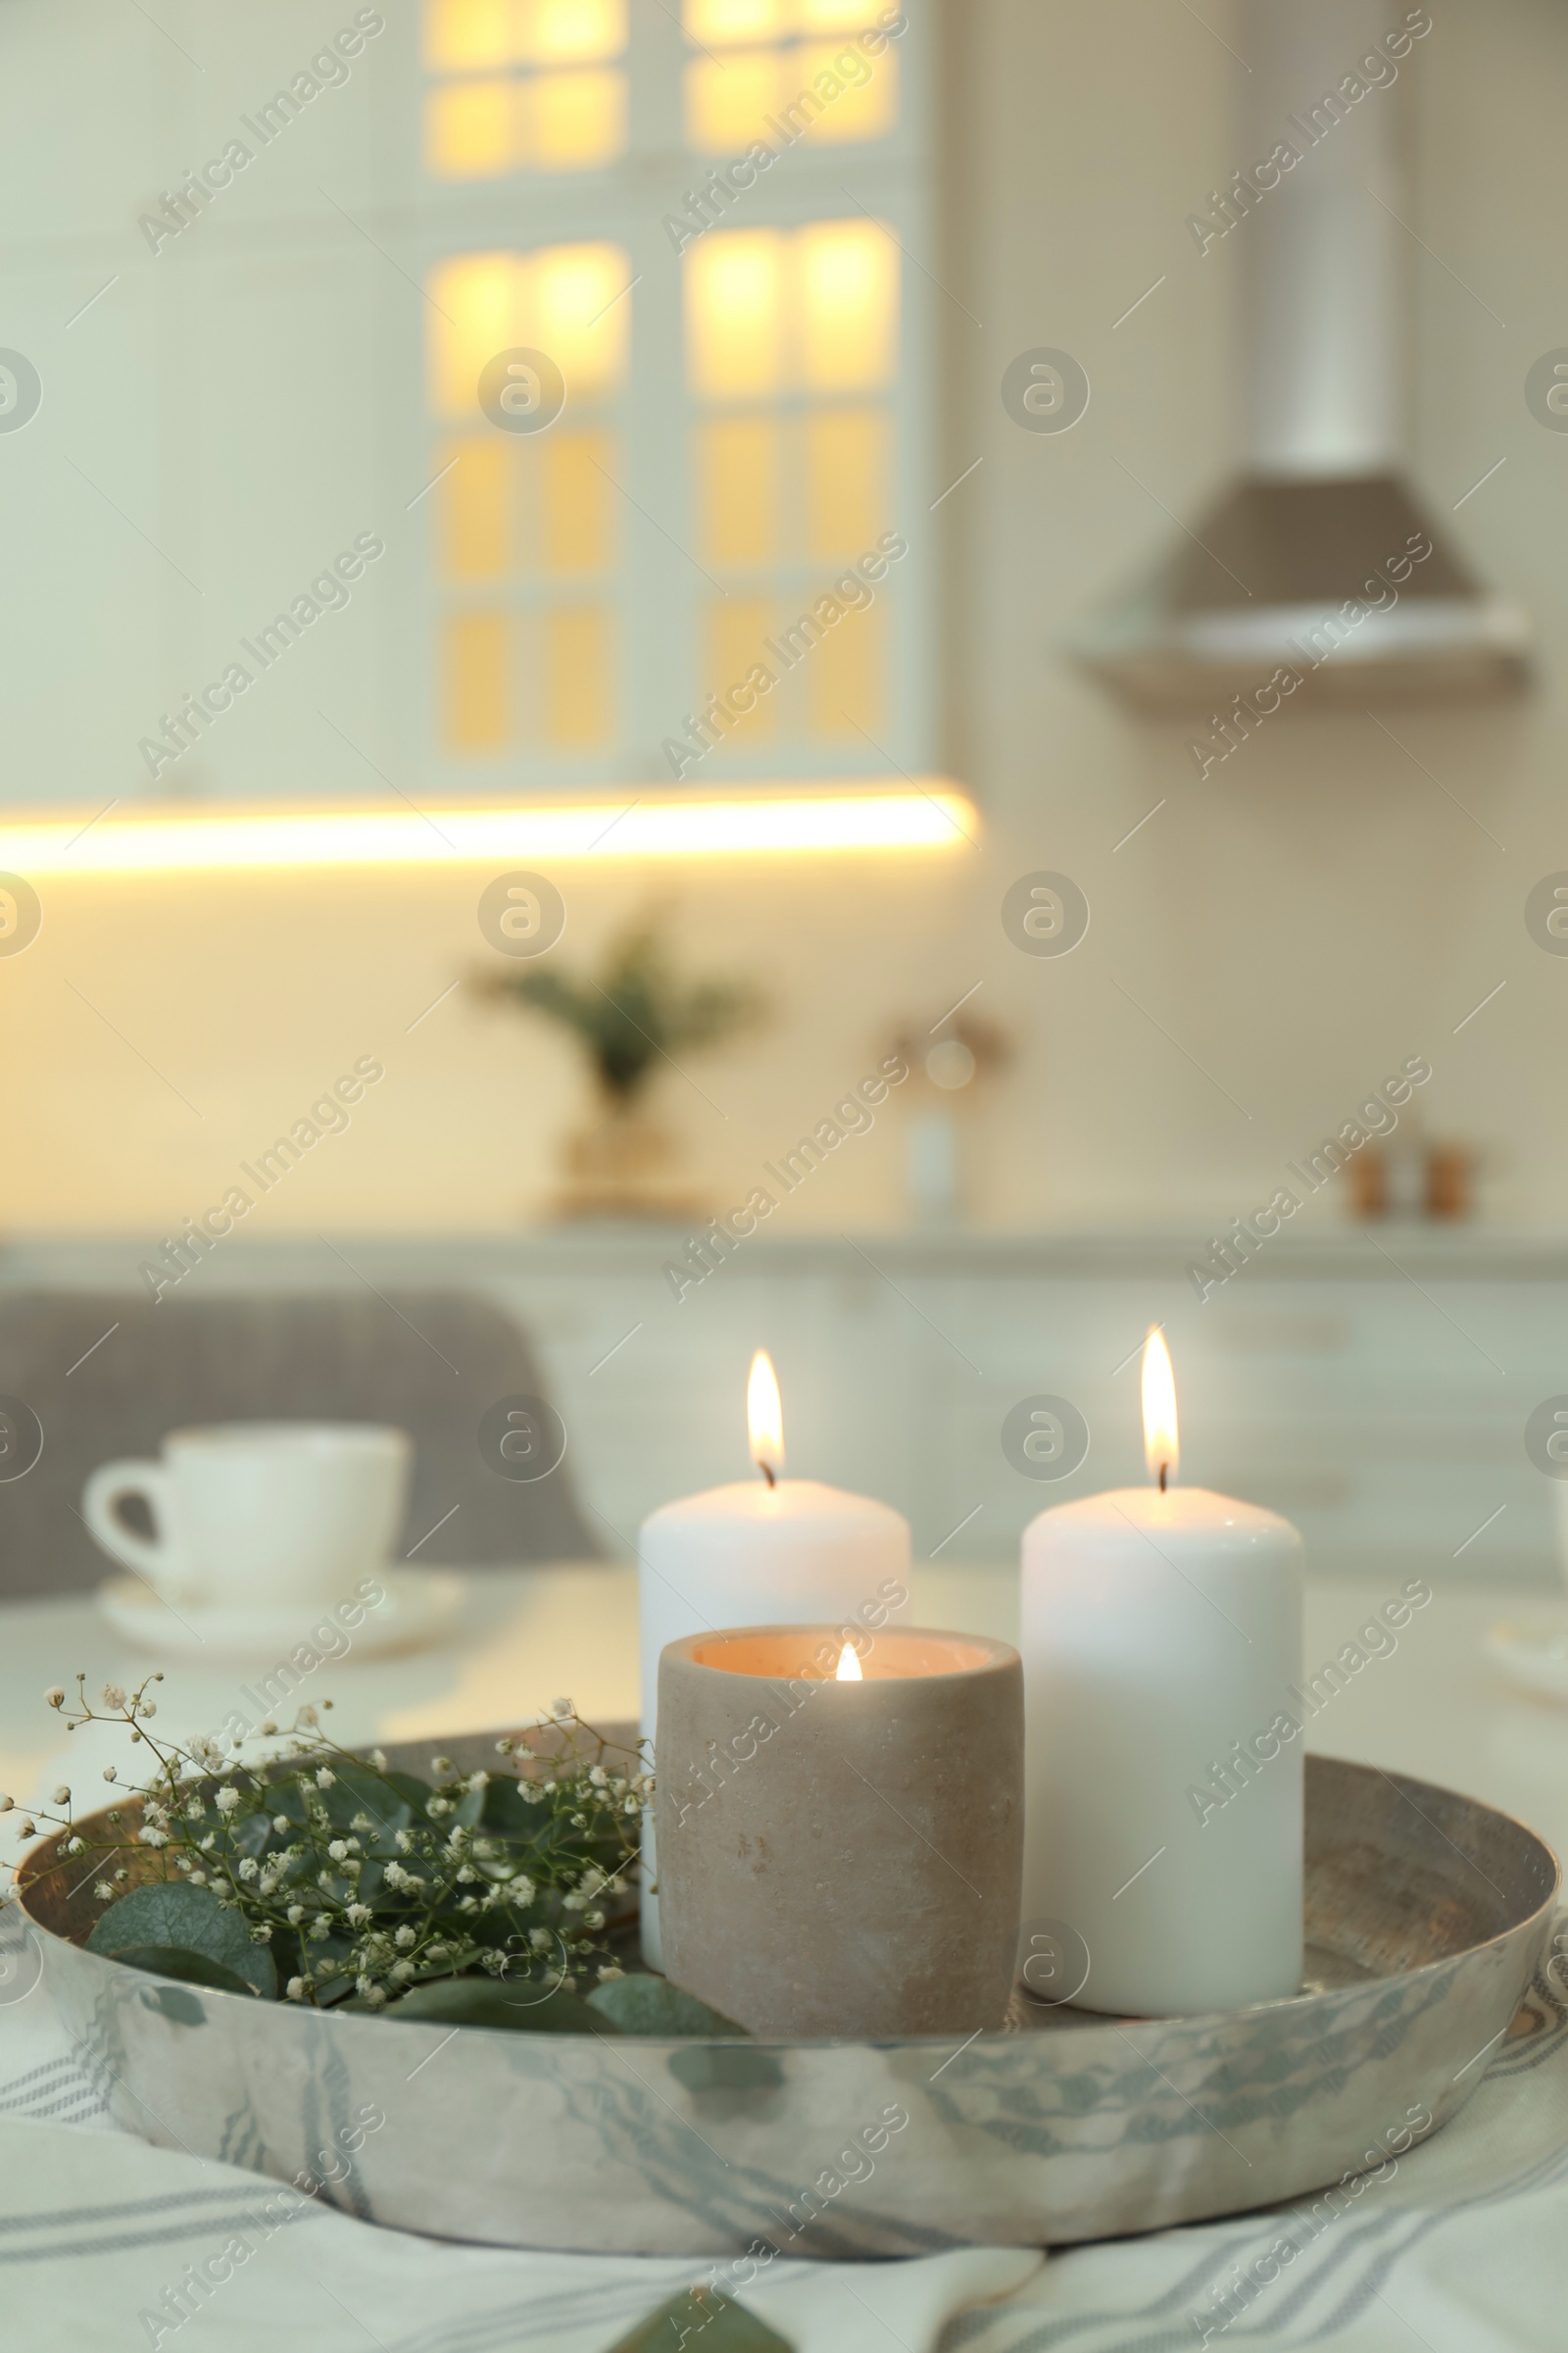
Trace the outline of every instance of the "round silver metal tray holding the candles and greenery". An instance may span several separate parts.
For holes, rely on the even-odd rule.
[[[473,1767],[491,1744],[447,1751]],[[1293,2000],[1124,2021],[1018,2000],[1013,2031],[971,2042],[788,2045],[454,2033],[176,1986],[71,1941],[92,1918],[78,1878],[56,1864],[26,1899],[45,1986],[148,2141],[280,2181],[339,2172],[327,2200],[440,2238],[889,2257],[1152,2231],[1382,2165],[1481,2080],[1561,1871],[1486,1805],[1307,1758]]]

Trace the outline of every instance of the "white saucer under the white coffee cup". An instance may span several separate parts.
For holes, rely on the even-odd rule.
[[[378,1659],[390,1649],[414,1649],[444,1631],[463,1600],[463,1579],[451,1569],[378,1569],[383,1600],[367,1607],[346,1595],[313,1609],[308,1602],[268,1607],[202,1607],[165,1602],[139,1577],[110,1577],[99,1586],[103,1617],[139,1649],[160,1659],[242,1659],[252,1666],[284,1666],[303,1645],[315,1661]],[[357,1626],[348,1614],[362,1609]],[[324,1628],[334,1633],[327,1635]],[[310,1640],[322,1628],[322,1642]],[[303,1666],[303,1661],[296,1661]]]

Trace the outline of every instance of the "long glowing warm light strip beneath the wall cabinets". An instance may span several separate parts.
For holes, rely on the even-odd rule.
[[[0,824],[0,871],[38,875],[212,873],[308,866],[548,866],[567,859],[940,852],[973,840],[964,793],[825,786],[743,800],[538,800],[416,809],[207,809]]]

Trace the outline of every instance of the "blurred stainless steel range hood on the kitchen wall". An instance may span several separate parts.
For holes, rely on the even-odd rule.
[[[1241,249],[1244,471],[1070,640],[1140,711],[1213,713],[1272,682],[1288,696],[1274,708],[1526,685],[1523,609],[1474,576],[1401,466],[1415,252],[1401,115],[1432,19],[1389,28],[1389,14],[1387,0],[1237,12],[1241,169],[1194,209],[1185,266]]]

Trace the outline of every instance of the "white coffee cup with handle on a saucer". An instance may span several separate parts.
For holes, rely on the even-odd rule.
[[[324,1602],[383,1567],[409,1454],[404,1431],[350,1421],[169,1431],[162,1461],[101,1464],[82,1487],[82,1518],[172,1602]],[[150,1506],[153,1537],[120,1518],[132,1494]]]

